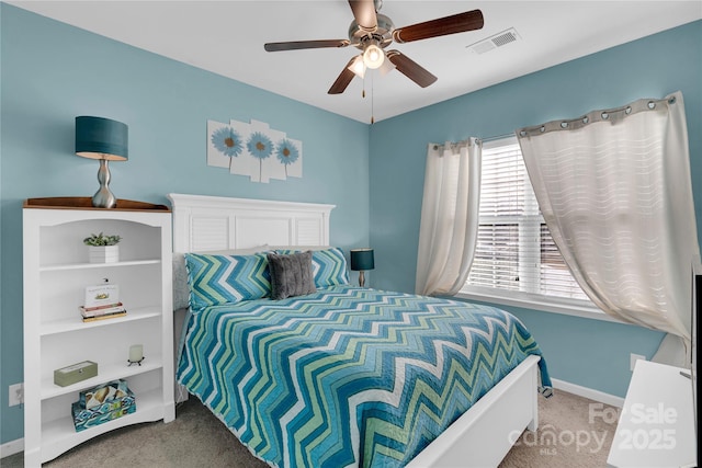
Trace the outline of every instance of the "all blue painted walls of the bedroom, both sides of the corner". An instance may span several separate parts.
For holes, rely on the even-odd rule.
[[[702,22],[369,127],[4,3],[0,16],[0,444],[23,434],[21,408],[7,406],[8,386],[23,379],[22,201],[97,189],[97,162],[73,155],[76,115],[129,125],[131,159],[111,164],[117,196],[167,203],[166,193],[182,192],[332,203],[331,242],[348,249],[370,240],[376,254],[370,283],[411,292],[428,142],[503,135],[681,90],[702,220]],[[303,179],[259,184],[207,167],[206,121],[229,118],[267,122],[302,140]],[[553,377],[621,397],[629,354],[650,356],[661,338],[637,327],[507,309],[536,335]]]

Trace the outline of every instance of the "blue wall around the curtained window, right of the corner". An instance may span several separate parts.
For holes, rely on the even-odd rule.
[[[491,137],[639,98],[682,91],[702,235],[702,22],[521,77],[371,127],[373,286],[412,292],[428,142]],[[393,184],[384,181],[393,180]],[[663,334],[639,327],[505,307],[540,342],[553,377],[624,397],[630,353],[648,357]]]

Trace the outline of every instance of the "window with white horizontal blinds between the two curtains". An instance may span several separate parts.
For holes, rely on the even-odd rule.
[[[478,240],[462,293],[591,303],[546,227],[517,138],[483,146]]]

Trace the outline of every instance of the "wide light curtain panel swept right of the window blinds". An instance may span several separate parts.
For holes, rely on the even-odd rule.
[[[607,313],[689,342],[699,246],[682,93],[517,135],[582,290]]]

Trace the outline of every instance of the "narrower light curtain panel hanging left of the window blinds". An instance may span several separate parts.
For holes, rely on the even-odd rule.
[[[478,230],[480,151],[482,144],[476,138],[460,144],[429,144],[417,294],[454,295],[468,277]]]

